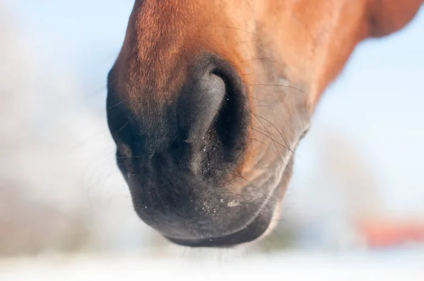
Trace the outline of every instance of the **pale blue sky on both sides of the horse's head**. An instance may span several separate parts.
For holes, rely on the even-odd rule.
[[[46,67],[72,70],[84,99],[102,109],[107,71],[122,44],[134,0],[6,0]],[[60,62],[60,63],[59,63]],[[303,172],[314,160],[314,137],[333,130],[363,153],[394,210],[424,202],[424,7],[401,32],[360,44],[326,91],[310,136],[300,146]],[[305,164],[306,163],[306,164]],[[310,163],[308,166],[307,164]]]

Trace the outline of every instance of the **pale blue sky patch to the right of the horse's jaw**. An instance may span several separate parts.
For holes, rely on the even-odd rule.
[[[356,49],[314,120],[360,148],[397,210],[424,202],[423,66],[421,8],[405,30]]]

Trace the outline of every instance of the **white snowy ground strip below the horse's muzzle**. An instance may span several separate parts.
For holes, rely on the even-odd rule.
[[[424,280],[421,253],[285,253],[245,258],[50,256],[0,260],[0,280]]]

